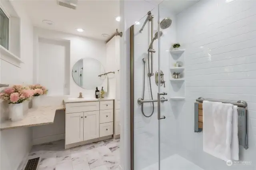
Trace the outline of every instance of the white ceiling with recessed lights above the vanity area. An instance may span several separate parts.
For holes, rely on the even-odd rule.
[[[76,10],[59,6],[57,0],[17,0],[22,5],[34,26],[85,36],[99,40],[107,40],[101,34],[113,35],[119,22],[118,0],[78,0]],[[42,23],[51,20],[54,25]],[[76,31],[83,28],[84,32]]]

